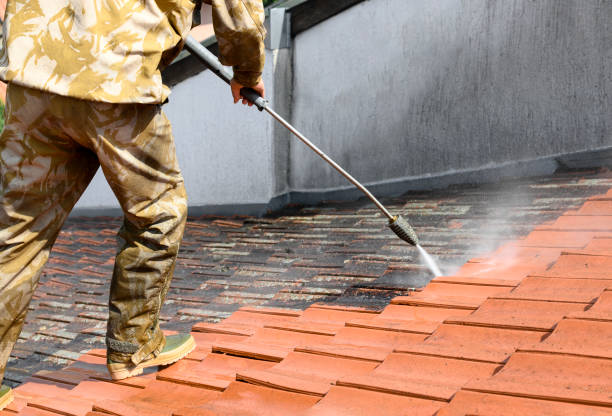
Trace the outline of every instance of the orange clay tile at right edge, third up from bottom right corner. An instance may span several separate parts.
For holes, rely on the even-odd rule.
[[[521,351],[574,354],[612,359],[612,321],[563,319],[544,341]]]

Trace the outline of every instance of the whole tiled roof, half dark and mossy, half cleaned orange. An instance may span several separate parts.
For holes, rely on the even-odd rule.
[[[118,220],[72,221],[4,414],[611,414],[611,188],[580,171],[385,201],[449,274],[431,282],[365,202],[192,219],[164,327],[198,348],[119,383],[93,348]]]

